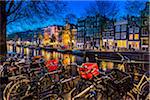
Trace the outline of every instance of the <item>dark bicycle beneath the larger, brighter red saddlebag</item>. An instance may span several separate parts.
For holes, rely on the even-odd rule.
[[[86,74],[93,72],[88,71]],[[120,79],[115,75],[122,76]],[[81,76],[82,77],[82,76]],[[85,79],[84,77],[78,82],[73,91],[72,99],[77,100],[99,100],[99,99],[116,99],[122,98],[126,91],[125,83],[130,83],[131,76],[127,73],[121,72],[117,69],[112,69],[110,73],[101,73],[98,76],[93,75],[92,79]],[[114,82],[115,81],[115,82]],[[132,83],[131,83],[132,84]],[[124,87],[124,88],[122,88]],[[118,90],[118,88],[120,90]],[[109,92],[111,91],[111,93]],[[109,94],[108,94],[109,93]]]

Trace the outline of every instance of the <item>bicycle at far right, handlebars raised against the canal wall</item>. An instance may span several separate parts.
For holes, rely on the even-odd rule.
[[[121,60],[108,60],[105,59],[105,61],[112,61],[112,62],[116,62],[116,63],[122,63],[120,64],[120,66],[118,66],[118,69],[123,71],[123,72],[127,72],[132,76],[132,82],[133,82],[133,88],[126,93],[126,95],[124,96],[124,99],[132,99],[132,100],[136,100],[136,99],[145,99],[148,98],[149,96],[149,83],[150,83],[150,78],[148,75],[143,74],[146,71],[142,71],[141,69],[139,69],[138,67],[136,67],[136,69],[139,70],[139,72],[142,72],[142,75],[139,74],[138,72],[133,73],[128,72],[126,70],[126,66],[127,64],[149,64],[149,62],[144,62],[144,61],[134,61],[134,60],[130,60],[128,57],[124,57],[123,55],[121,55],[120,53],[117,53],[122,59]],[[98,59],[100,61],[104,60],[104,59]],[[131,66],[132,69],[135,69],[135,66]],[[135,78],[134,76],[140,76],[140,80],[138,81],[138,83],[135,83]],[[146,90],[145,90],[146,89]]]

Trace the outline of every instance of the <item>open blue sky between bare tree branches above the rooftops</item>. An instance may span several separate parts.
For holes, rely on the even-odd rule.
[[[74,13],[78,18],[84,16],[85,14],[85,8],[88,7],[91,3],[93,3],[94,0],[88,0],[88,1],[68,1],[65,0],[65,2],[67,1],[68,4],[68,11],[67,13]],[[117,1],[117,0],[113,0],[113,1]],[[120,15],[124,14],[124,2],[123,1],[117,1],[117,4],[119,4],[119,9],[120,10]],[[63,15],[65,16],[65,14]],[[58,19],[48,19],[48,20],[44,20],[41,22],[36,22],[35,24],[26,24],[24,22],[24,20],[21,20],[19,22],[14,22],[11,23],[10,25],[7,26],[7,34],[10,33],[14,33],[14,32],[20,32],[20,31],[26,31],[26,30],[32,30],[35,28],[39,28],[39,27],[45,27],[48,25],[53,25],[53,24],[58,24],[58,25],[63,25],[64,21],[62,20],[62,18],[58,18]]]

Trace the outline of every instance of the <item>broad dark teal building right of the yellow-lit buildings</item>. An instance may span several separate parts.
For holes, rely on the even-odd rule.
[[[101,16],[87,16],[78,19],[77,46],[78,48],[99,49],[100,47]]]

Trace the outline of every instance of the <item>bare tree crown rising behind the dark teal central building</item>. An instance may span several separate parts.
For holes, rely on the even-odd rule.
[[[115,1],[96,0],[95,2],[92,2],[85,11],[88,16],[100,14],[103,17],[114,19],[117,17],[119,11],[117,6]]]

